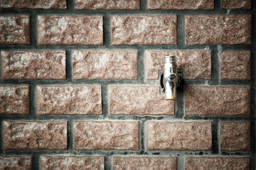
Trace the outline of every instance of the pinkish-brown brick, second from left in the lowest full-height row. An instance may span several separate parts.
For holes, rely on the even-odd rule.
[[[139,122],[75,122],[75,149],[139,149]]]

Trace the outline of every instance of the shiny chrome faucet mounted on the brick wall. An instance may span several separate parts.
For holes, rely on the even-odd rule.
[[[164,84],[164,96],[167,100],[176,99],[176,88],[180,86],[181,79],[178,77],[175,56],[165,56],[164,57],[164,77],[162,80]]]

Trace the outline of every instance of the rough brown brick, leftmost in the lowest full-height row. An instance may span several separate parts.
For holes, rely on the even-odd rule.
[[[4,149],[67,149],[67,123],[4,121]]]

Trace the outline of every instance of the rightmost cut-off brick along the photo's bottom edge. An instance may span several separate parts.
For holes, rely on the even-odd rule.
[[[186,170],[194,169],[233,169],[250,170],[248,157],[186,157]]]

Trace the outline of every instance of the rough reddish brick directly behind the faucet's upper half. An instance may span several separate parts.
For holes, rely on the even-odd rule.
[[[210,79],[210,50],[146,50],[146,79],[159,79],[166,55],[175,56],[177,68],[183,69],[184,79]]]

